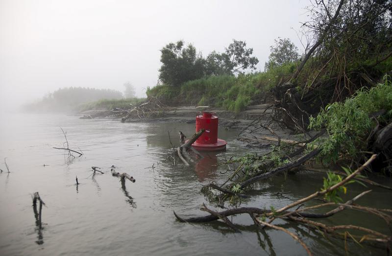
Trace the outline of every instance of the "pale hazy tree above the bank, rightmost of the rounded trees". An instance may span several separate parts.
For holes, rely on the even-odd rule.
[[[289,38],[275,39],[275,44],[270,47],[271,53],[268,57],[264,69],[270,70],[277,66],[282,66],[298,60],[298,48],[290,41]]]

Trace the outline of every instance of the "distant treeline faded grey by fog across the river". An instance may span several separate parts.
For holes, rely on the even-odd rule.
[[[24,110],[29,112],[68,112],[77,109],[82,103],[99,99],[121,98],[123,98],[123,93],[115,90],[69,87],[49,93],[41,101],[25,105]]]

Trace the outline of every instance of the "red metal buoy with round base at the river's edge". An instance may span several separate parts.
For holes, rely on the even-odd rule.
[[[218,139],[218,116],[213,112],[201,112],[196,116],[196,132],[204,129],[205,132],[192,144],[196,150],[218,151],[225,150],[227,142]]]

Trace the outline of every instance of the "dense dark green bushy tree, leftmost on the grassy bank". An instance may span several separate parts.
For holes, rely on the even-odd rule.
[[[178,86],[204,75],[205,60],[192,44],[184,47],[182,40],[161,49],[161,62],[159,79],[167,85]]]

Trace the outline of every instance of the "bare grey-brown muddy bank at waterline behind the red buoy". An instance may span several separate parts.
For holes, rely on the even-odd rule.
[[[152,115],[148,118],[141,118],[137,115],[132,118],[126,118],[126,112],[121,110],[90,110],[80,113],[82,119],[100,119],[110,118],[119,122],[178,122],[178,123],[196,123],[196,115],[201,111],[215,112],[219,117],[219,125],[226,130],[236,130],[240,135],[239,140],[243,141],[246,147],[262,148],[273,143],[272,141],[260,139],[262,137],[280,138],[282,140],[305,140],[303,134],[294,135],[289,129],[283,129],[279,126],[272,126],[274,134],[270,130],[259,127],[254,129],[255,123],[266,123],[270,120],[270,104],[260,104],[249,106],[245,111],[240,113],[230,112],[220,108],[196,107],[196,106],[178,106],[165,107],[159,115]],[[252,126],[250,126],[253,124]],[[276,141],[275,141],[276,142]],[[276,143],[275,143],[276,144]]]

